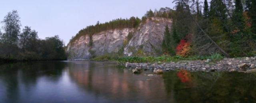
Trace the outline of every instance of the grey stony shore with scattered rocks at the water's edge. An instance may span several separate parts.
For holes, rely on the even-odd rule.
[[[197,61],[178,61],[168,63],[125,63],[126,68],[133,69],[133,73],[140,73],[143,70],[151,70],[154,73],[163,73],[176,69],[189,71],[242,71],[246,73],[256,72],[256,57],[224,58],[221,61],[213,62],[210,59]]]

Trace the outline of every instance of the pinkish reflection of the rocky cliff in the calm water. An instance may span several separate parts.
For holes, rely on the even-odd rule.
[[[120,69],[106,62],[70,64],[71,78],[86,92],[106,96],[115,102],[160,102],[166,97],[162,77],[134,75],[131,70]],[[146,72],[144,72],[146,73]],[[151,73],[148,71],[148,73]]]

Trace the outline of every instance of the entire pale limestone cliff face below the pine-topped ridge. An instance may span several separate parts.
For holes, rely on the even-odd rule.
[[[92,35],[92,39],[88,35],[81,36],[68,44],[68,59],[90,59],[93,55],[120,53],[124,56],[159,55],[166,24],[171,27],[172,20],[150,18],[136,29],[108,30]]]

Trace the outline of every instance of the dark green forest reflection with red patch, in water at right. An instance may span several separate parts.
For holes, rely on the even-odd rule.
[[[256,102],[255,73],[180,70],[164,73],[163,78],[167,93],[177,103]]]

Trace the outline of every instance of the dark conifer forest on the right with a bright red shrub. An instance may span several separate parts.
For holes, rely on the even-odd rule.
[[[255,0],[174,0],[164,51],[176,55],[256,55]],[[166,35],[165,34],[165,35]],[[166,41],[167,40],[167,41]]]

